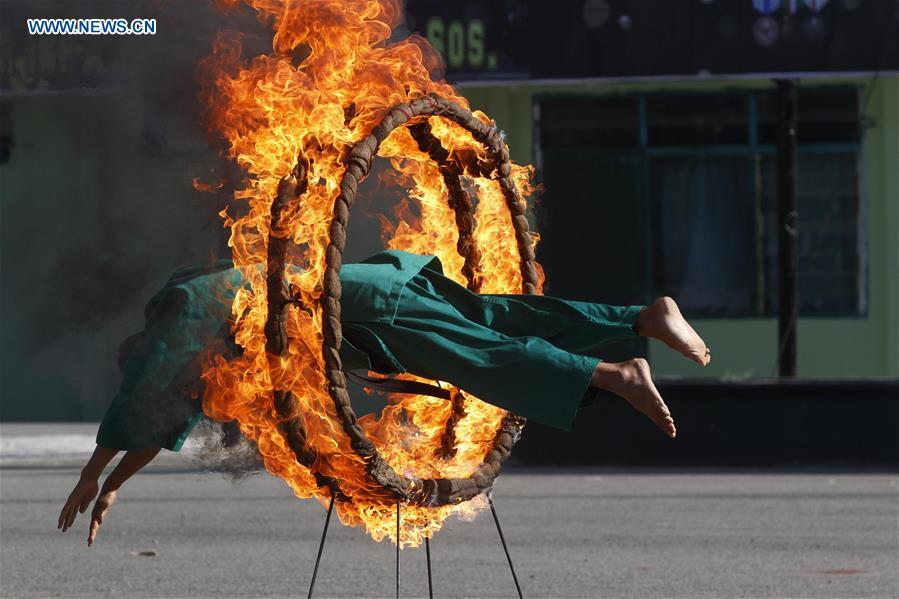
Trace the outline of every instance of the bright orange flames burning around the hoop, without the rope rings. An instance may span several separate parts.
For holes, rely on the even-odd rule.
[[[298,403],[308,443],[320,456],[318,470],[340,481],[352,501],[338,502],[338,515],[348,525],[362,524],[372,538],[396,540],[394,508],[385,492],[366,475],[342,432],[325,389],[321,358],[321,313],[290,313],[289,355],[273,380],[268,367],[263,331],[267,317],[265,262],[269,218],[278,182],[294,167],[299,155],[310,160],[310,185],[300,206],[286,219],[286,230],[298,247],[289,283],[305,305],[317,306],[324,269],[331,210],[338,194],[344,152],[369,134],[393,105],[436,93],[463,106],[465,98],[445,82],[432,81],[428,67],[436,53],[413,37],[388,44],[392,27],[401,18],[397,0],[245,0],[260,20],[272,23],[273,52],[244,59],[238,34],[218,36],[212,56],[202,65],[208,76],[201,98],[208,125],[229,142],[230,155],[247,172],[235,197],[247,205],[241,216],[222,216],[230,228],[234,264],[242,269],[249,289],[237,291],[233,316],[240,357],[211,359],[204,372],[207,390],[203,408],[217,420],[238,420],[242,432],[254,440],[266,469],[290,485],[297,497],[324,501],[312,473],[297,463],[279,433],[279,417],[272,408],[271,389],[291,390]],[[225,4],[233,5],[230,1]],[[477,117],[490,122],[483,113]],[[444,147],[467,156],[485,157],[467,131],[443,119],[431,119],[434,134]],[[408,130],[396,129],[381,146],[417,202],[420,218],[403,219],[390,231],[388,245],[438,256],[447,275],[465,283],[462,258],[456,252],[455,218],[437,167],[422,153]],[[519,188],[530,192],[530,167],[513,166]],[[475,182],[475,236],[482,253],[487,293],[519,293],[519,255],[511,234],[509,213],[495,181]],[[391,396],[379,416],[359,420],[380,454],[399,473],[411,477],[470,475],[490,449],[505,414],[474,397],[466,400],[466,415],[457,424],[456,455],[435,457],[447,418],[448,402],[419,396]],[[452,514],[473,514],[484,507],[483,497],[444,507],[406,506],[400,542],[416,546],[430,537]]]

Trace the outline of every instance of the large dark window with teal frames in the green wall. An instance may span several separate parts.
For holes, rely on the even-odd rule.
[[[866,311],[858,110],[855,88],[799,93],[803,316]],[[616,303],[666,294],[693,316],[775,314],[774,114],[768,90],[541,98],[547,292]]]

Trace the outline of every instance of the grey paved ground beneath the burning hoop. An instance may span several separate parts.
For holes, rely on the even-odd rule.
[[[88,549],[83,516],[56,530],[74,462],[5,460],[0,596],[305,596],[324,510],[189,466],[129,482]],[[895,474],[512,468],[494,499],[525,597],[899,596]],[[431,550],[435,597],[515,596],[489,511]],[[333,521],[316,596],[392,597],[394,567],[389,542]],[[428,596],[425,567],[402,552],[402,596]]]

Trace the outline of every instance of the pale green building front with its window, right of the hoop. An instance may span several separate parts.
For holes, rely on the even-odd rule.
[[[547,292],[675,297],[713,352],[697,371],[777,368],[769,78],[467,84],[534,164]],[[899,77],[800,80],[798,374],[899,376]]]

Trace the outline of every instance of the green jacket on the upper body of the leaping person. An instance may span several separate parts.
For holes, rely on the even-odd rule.
[[[340,270],[341,321],[346,326],[390,324],[403,287],[425,267],[441,268],[433,256],[395,250],[345,264]],[[234,296],[245,285],[241,272],[223,260],[179,270],[153,296],[144,332],[126,342],[122,384],[100,424],[98,444],[123,450],[181,448],[203,416],[199,358],[209,351],[226,357],[241,351],[229,323]],[[367,330],[359,328],[363,334]],[[367,342],[390,355],[376,336]],[[346,339],[340,354],[346,370],[372,369],[370,355]]]

